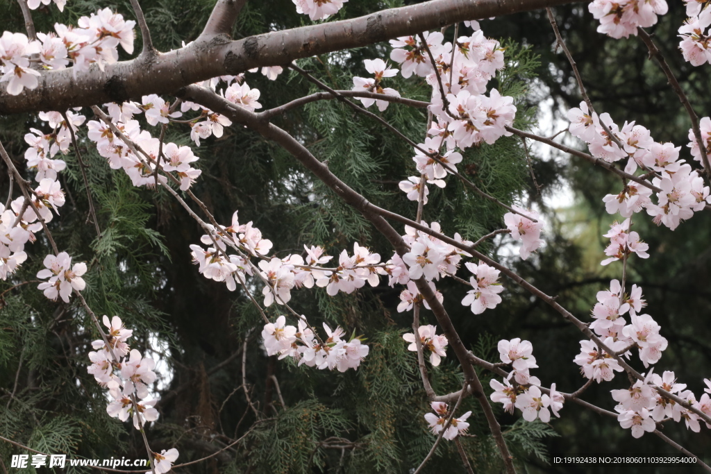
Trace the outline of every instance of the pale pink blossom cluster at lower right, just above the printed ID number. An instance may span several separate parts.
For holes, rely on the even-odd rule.
[[[685,389],[686,384],[676,382],[674,372],[666,371],[661,377],[650,372],[629,389],[611,390],[612,398],[618,402],[615,411],[619,413],[617,421],[620,426],[631,429],[632,436],[640,438],[645,431],[651,433],[656,429],[656,421],[673,419],[680,422],[683,419],[687,429],[699,432],[700,416],[659,392],[657,388],[676,395],[706,414],[711,412],[708,394],[705,393],[697,402],[693,392]],[[706,392],[711,390],[706,389]]]

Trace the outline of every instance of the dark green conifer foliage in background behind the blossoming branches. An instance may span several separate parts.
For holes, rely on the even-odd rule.
[[[141,1],[159,50],[177,48],[182,41],[196,38],[213,3]],[[400,4],[397,0],[351,1],[336,19]],[[70,0],[64,14],[55,8],[36,11],[36,27],[49,31],[55,21],[73,23],[79,16],[106,6],[131,16],[127,1]],[[9,12],[4,28],[22,31],[14,1],[0,0],[0,11]],[[295,13],[292,1],[250,1],[237,21],[235,37],[301,24],[306,21]],[[495,34],[484,28],[489,35]],[[447,30],[447,38],[453,30]],[[141,41],[138,34],[137,45]],[[493,85],[502,95],[515,97],[515,126],[526,129],[535,123],[531,87],[540,72],[540,53],[521,46],[522,41],[506,39],[508,33],[496,34],[506,45],[508,66]],[[331,87],[350,89],[351,77],[365,75],[362,60],[386,58],[388,50],[383,44],[372,45],[299,64]],[[422,80],[395,77],[391,81],[403,97],[428,98],[429,87]],[[277,82],[260,74],[247,75],[247,82],[260,89],[265,108],[316,92],[302,77],[289,72]],[[90,110],[82,113],[91,119]],[[380,115],[410,139],[419,142],[424,138],[426,115],[422,110],[392,104]],[[275,123],[309,146],[319,159],[328,161],[333,173],[368,200],[414,217],[414,203],[397,188],[397,182],[415,171],[413,150],[380,124],[354,114],[338,101],[314,102]],[[31,126],[41,126],[36,117],[0,117],[0,139],[20,169],[24,169],[26,148],[23,134]],[[163,372],[168,377],[156,387],[162,398],[158,405],[161,418],[146,430],[154,450],[176,446],[181,452],[179,462],[184,462],[207,456],[244,436],[234,449],[191,466],[191,473],[407,473],[421,462],[434,436],[427,432],[423,419],[429,406],[415,353],[408,352],[402,340],[402,333],[410,330],[412,315],[397,313],[397,290],[381,285],[335,298],[321,289],[294,292],[292,306],[310,321],[326,321],[331,327],[340,324],[348,333],[355,330],[365,335],[370,355],[357,372],[324,373],[266,357],[259,343],[260,316],[247,296],[241,289],[230,293],[223,284],[204,279],[191,264],[188,245],[198,243],[203,233],[196,222],[171,196],[133,188],[121,172],[110,170],[85,139],[84,129],[78,139],[102,237],[97,238],[93,226],[86,222],[87,196],[73,151],[65,156],[68,169],[60,175],[68,193],[67,205],[50,229],[60,250],[70,252],[76,261],[87,262],[84,294],[97,315],[121,316],[135,329],[132,345],[142,352],[148,350],[149,355],[152,350],[153,357],[166,363]],[[189,142],[181,126],[171,126],[166,139],[177,144]],[[229,222],[232,212],[239,210],[240,222],[254,221],[274,242],[278,255],[300,252],[303,244],[321,244],[329,254],[337,255],[343,248],[352,249],[355,241],[383,257],[392,254],[385,239],[373,232],[358,212],[314,180],[292,156],[251,131],[232,126],[221,139],[209,139],[194,150],[203,171],[195,187],[198,197],[219,222]],[[547,193],[560,170],[532,158],[542,193]],[[461,170],[505,203],[538,199],[522,144],[515,137],[467,151]],[[7,184],[6,175],[0,173],[0,189],[6,190]],[[504,211],[454,179],[444,190],[434,188],[431,192],[424,219],[441,222],[448,235],[460,232],[465,238],[476,239],[502,227]],[[558,248],[565,254],[544,251],[538,263],[521,265],[529,276],[538,275],[537,284],[549,279],[567,281],[558,279],[572,272],[571,262],[577,262],[567,260],[579,253],[564,238],[550,242],[550,247],[555,247],[552,242],[560,244]],[[488,252],[495,250],[493,244],[486,245],[483,248]],[[0,393],[0,435],[39,451],[72,457],[143,456],[136,431],[107,416],[105,391],[86,372],[87,352],[97,333],[82,308],[75,301],[50,303],[36,284],[12,288],[35,279],[49,252],[48,242],[38,235],[38,241],[28,247],[29,258],[21,271],[0,284],[0,387],[4,388]],[[533,266],[547,273],[540,276]],[[484,316],[473,316],[459,305],[466,291],[462,287],[445,282],[440,288],[465,343],[488,360],[496,359],[499,335],[519,335],[515,333],[519,316],[542,312],[528,308],[527,294],[507,288],[510,303]],[[564,295],[572,304],[575,298],[582,298],[579,293]],[[594,292],[582,298],[579,311],[589,311],[591,295],[594,297]],[[275,318],[279,311],[271,306],[267,315]],[[547,313],[540,318],[546,323],[558,321]],[[431,313],[422,312],[422,323],[434,323]],[[536,338],[541,335],[535,334]],[[541,340],[536,338],[531,336],[534,347]],[[243,348],[247,390],[258,416],[240,387],[242,354],[232,357]],[[449,355],[439,368],[431,370],[438,393],[461,387],[459,365],[453,359]],[[222,364],[225,360],[228,363]],[[271,375],[279,381],[285,406],[279,402]],[[488,387],[491,375],[482,372],[480,377]],[[473,411],[471,437],[462,442],[476,472],[500,472],[496,446],[479,405],[469,398],[461,409]],[[505,436],[517,462],[521,466],[545,464],[545,443],[555,432],[544,424],[505,418],[498,410],[508,424]],[[0,456],[9,459],[11,453],[17,453],[16,448],[0,443]],[[439,445],[426,472],[464,472],[452,443]]]

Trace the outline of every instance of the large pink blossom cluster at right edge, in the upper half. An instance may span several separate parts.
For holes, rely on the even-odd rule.
[[[605,208],[610,214],[619,212],[623,217],[630,217],[634,212],[646,209],[653,216],[653,222],[663,224],[674,230],[682,220],[689,219],[694,212],[700,211],[711,203],[709,187],[699,173],[679,158],[681,147],[673,144],[660,144],[654,141],[648,129],[634,122],[625,122],[620,130],[609,114],[599,117],[589,112],[585,102],[579,108],[568,111],[570,133],[589,145],[590,153],[608,163],[614,163],[629,157],[625,171],[635,173],[638,168],[653,173],[652,185],[661,190],[656,193],[657,203],[651,200],[651,187],[640,183],[626,183],[618,195],[609,194],[603,198]],[[610,136],[601,125],[611,131]],[[711,122],[702,120],[705,135],[711,133]],[[695,158],[700,161],[700,151],[693,131],[690,131],[689,144]],[[622,145],[622,148],[616,143]]]

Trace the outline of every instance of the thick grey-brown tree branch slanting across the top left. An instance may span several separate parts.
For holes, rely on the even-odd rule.
[[[97,66],[77,73],[72,68],[44,72],[34,90],[5,93],[0,85],[0,114],[66,110],[105,102],[124,102],[148,94],[172,93],[210,77],[248,69],[284,65],[299,58],[357,48],[397,36],[451,25],[472,18],[488,18],[579,0],[432,0],[388,9],[343,21],[273,31],[240,41],[212,36],[185,48],[145,61],[144,58]],[[159,79],[158,79],[159,78]]]

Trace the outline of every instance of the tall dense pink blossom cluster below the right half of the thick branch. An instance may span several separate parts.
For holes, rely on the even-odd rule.
[[[456,38],[454,45],[443,44],[444,36],[439,32],[425,31],[422,38],[424,43],[419,36],[390,40],[394,48],[390,59],[400,64],[402,77],[413,74],[425,77],[432,87],[429,109],[434,114],[434,122],[424,143],[415,148],[412,159],[427,183],[444,188],[442,178],[456,171],[456,163],[462,160],[461,153],[455,151],[456,147],[464,150],[482,142],[493,144],[500,136],[510,135],[504,127],[513,122],[516,108],[511,97],[501,97],[496,89],[491,90],[489,97],[483,95],[488,81],[504,67],[503,48],[498,41],[485,38],[481,30],[475,31],[472,36]],[[357,86],[380,92],[380,77],[390,77],[395,70],[385,69],[382,60],[375,61],[378,63],[366,60],[366,68],[370,67],[368,70],[375,74],[375,80],[360,77],[353,80],[357,80]],[[440,82],[445,97],[442,97]],[[397,94],[390,91],[383,90],[381,93]],[[373,99],[368,100],[373,103]],[[380,102],[383,102],[379,104],[381,110],[385,109],[387,102]],[[408,199],[418,200],[422,185],[419,176],[411,176],[400,183],[400,189],[407,193]],[[426,185],[422,192],[426,203],[429,194]]]

